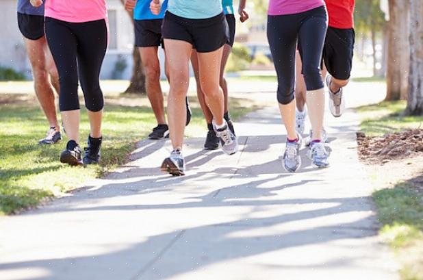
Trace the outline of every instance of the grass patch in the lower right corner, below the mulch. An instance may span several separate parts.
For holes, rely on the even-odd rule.
[[[381,234],[401,263],[402,280],[423,279],[423,195],[410,183],[373,194]]]

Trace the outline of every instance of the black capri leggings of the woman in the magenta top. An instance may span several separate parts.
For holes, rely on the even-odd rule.
[[[326,29],[325,6],[299,14],[268,16],[268,40],[278,75],[279,103],[285,105],[294,100],[297,42],[307,90],[324,87],[320,64]]]

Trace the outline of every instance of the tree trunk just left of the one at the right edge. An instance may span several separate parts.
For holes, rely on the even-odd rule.
[[[420,0],[421,1],[421,0]],[[402,54],[408,49],[408,34],[404,29],[404,21],[407,22],[408,5],[404,1],[389,0],[389,23],[388,23],[388,59],[387,59],[387,94],[385,100],[399,100],[401,98],[401,85],[404,71],[408,71],[407,60]]]

